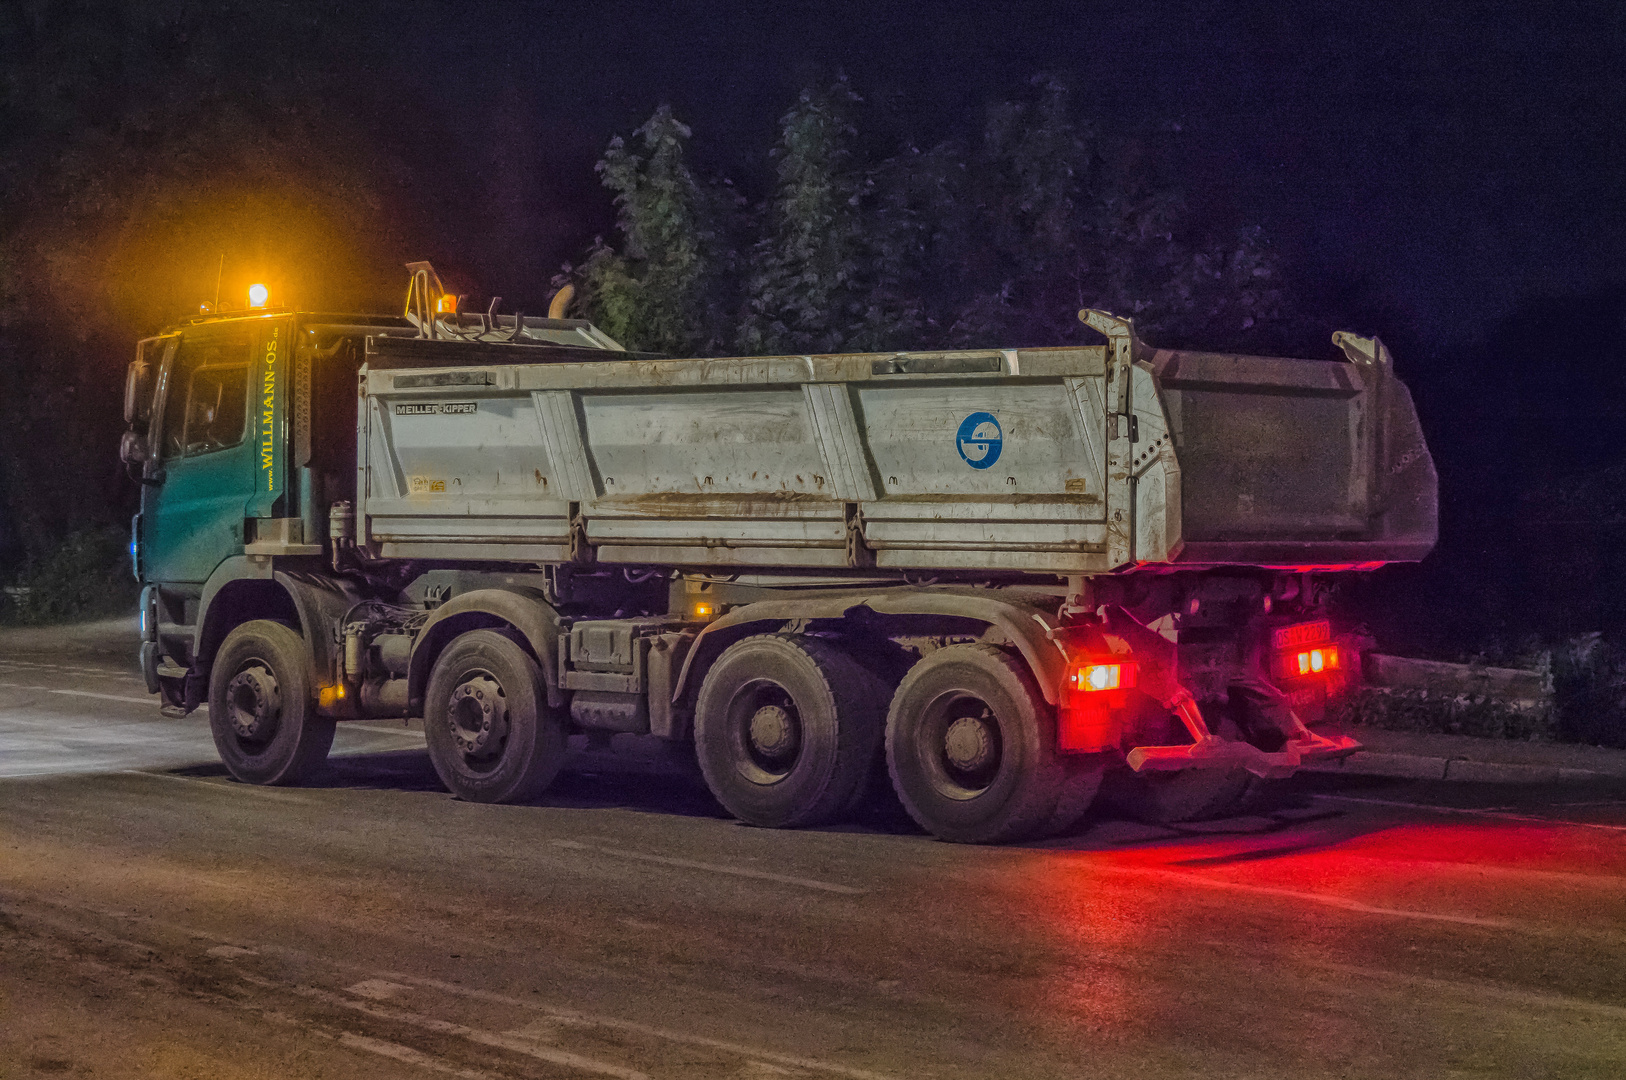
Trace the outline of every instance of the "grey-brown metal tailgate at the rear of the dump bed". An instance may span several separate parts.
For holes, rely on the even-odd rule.
[[[1374,338],[1348,361],[1158,351],[1180,470],[1180,563],[1359,566],[1434,547],[1437,480]]]

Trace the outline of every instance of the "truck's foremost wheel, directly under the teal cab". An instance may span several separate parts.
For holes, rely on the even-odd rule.
[[[333,747],[333,721],[315,712],[306,642],[283,623],[237,626],[215,654],[208,725],[226,771],[244,784],[296,784]]]

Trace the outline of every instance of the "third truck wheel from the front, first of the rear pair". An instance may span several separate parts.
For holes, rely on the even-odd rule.
[[[737,641],[694,704],[706,786],[751,825],[831,821],[862,794],[883,706],[880,682],[833,644],[790,634]]]

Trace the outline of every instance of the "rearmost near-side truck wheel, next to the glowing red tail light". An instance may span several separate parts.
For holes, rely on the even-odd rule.
[[[993,646],[950,646],[911,668],[886,717],[886,766],[909,817],[966,844],[1037,834],[1067,782],[1054,711]]]

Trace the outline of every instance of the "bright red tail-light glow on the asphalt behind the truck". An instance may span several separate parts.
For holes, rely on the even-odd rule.
[[[1618,826],[1476,815],[1397,823],[1433,813],[1353,800],[1298,813],[1301,821],[1273,815],[1172,830],[1104,821],[1070,849],[1033,852],[1039,865],[1011,875],[1002,903],[1011,924],[1057,958],[1034,960],[1047,968],[1036,1013],[1120,1038],[1167,1025],[1197,1031],[1202,971],[1216,955],[1257,953],[1267,981],[1325,981],[1356,960],[1405,976],[1423,963],[1406,942],[1472,948],[1486,934],[1540,942],[1554,896],[1584,909],[1595,932],[1626,932]],[[1125,943],[1141,968],[1109,961]]]

